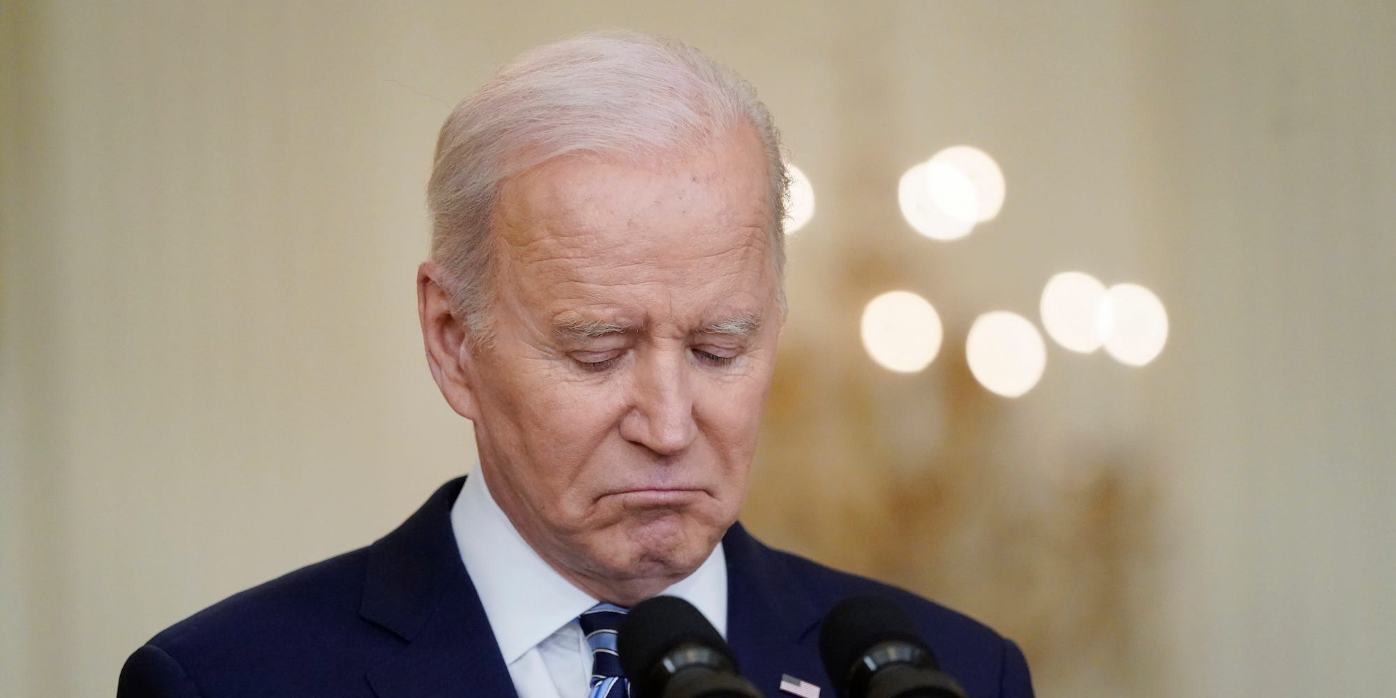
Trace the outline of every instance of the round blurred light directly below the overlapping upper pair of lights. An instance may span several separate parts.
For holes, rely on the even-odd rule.
[[[916,293],[892,290],[863,309],[863,348],[884,369],[916,373],[941,350],[941,317]]]

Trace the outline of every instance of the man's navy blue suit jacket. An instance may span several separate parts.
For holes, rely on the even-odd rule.
[[[514,697],[451,530],[452,480],[377,543],[232,596],[137,649],[117,698]],[[727,639],[768,697],[780,674],[833,688],[819,620],[839,599],[884,593],[912,613],[970,698],[1027,698],[1022,652],[990,628],[912,593],[772,550],[734,525]]]

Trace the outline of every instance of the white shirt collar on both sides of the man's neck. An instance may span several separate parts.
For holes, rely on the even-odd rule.
[[[490,496],[483,469],[465,479],[451,529],[505,663],[547,639],[597,602],[572,586],[519,536]],[[727,635],[727,560],[719,542],[694,574],[660,593],[692,603]]]

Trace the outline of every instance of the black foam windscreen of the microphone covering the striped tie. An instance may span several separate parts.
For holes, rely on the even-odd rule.
[[[616,637],[620,666],[635,695],[660,695],[662,685],[648,685],[651,667],[678,645],[695,644],[723,653],[736,664],[732,649],[702,611],[677,596],[655,596],[635,604]]]

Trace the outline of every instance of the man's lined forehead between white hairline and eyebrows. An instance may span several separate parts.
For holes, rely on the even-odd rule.
[[[754,134],[664,161],[558,159],[503,187],[497,279],[571,321],[655,315],[660,303],[670,315],[740,313],[776,288],[771,211]]]

